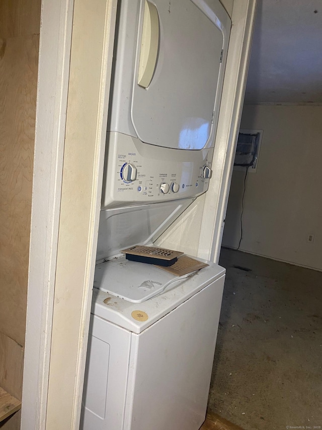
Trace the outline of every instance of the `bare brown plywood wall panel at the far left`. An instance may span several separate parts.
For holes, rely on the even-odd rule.
[[[31,9],[35,17],[28,21]],[[20,345],[25,342],[39,27],[40,0],[0,2],[0,330]]]

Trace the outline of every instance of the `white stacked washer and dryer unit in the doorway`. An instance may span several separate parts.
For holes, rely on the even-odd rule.
[[[225,271],[178,278],[120,251],[208,189],[231,23],[218,0],[118,3],[81,428],[197,430]]]

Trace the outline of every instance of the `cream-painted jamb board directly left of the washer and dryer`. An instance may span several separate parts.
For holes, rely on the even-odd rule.
[[[75,0],[74,4],[47,428],[79,427],[116,6],[116,0]]]

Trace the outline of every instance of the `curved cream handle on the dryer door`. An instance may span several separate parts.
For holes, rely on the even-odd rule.
[[[152,80],[159,47],[159,17],[156,6],[145,0],[138,85],[147,88]]]

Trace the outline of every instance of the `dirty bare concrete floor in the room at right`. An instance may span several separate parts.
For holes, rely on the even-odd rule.
[[[226,249],[220,265],[208,408],[245,430],[322,429],[322,272]]]

